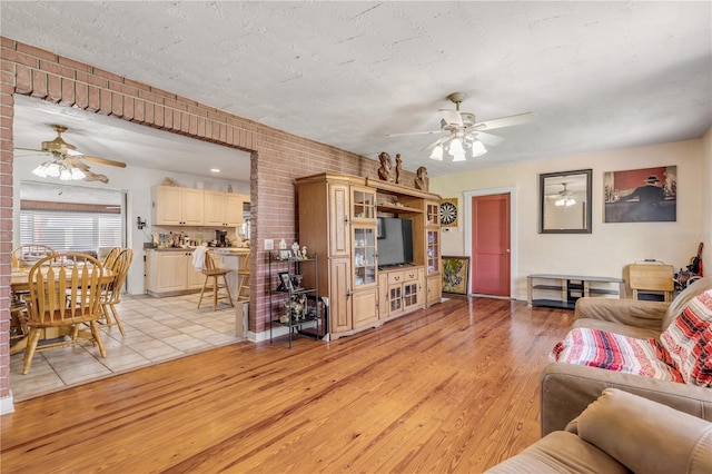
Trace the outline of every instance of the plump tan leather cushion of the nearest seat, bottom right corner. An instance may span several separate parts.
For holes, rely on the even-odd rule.
[[[636,473],[712,472],[712,423],[623,391],[603,391],[576,428]]]

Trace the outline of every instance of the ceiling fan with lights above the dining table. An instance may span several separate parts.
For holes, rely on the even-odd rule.
[[[32,172],[41,178],[59,178],[62,180],[85,180],[109,182],[106,175],[92,172],[86,161],[92,161],[100,165],[116,166],[126,168],[126,164],[115,161],[107,158],[98,158],[77,151],[77,147],[68,144],[62,139],[62,134],[67,131],[67,127],[62,125],[52,125],[52,129],[57,132],[57,137],[51,141],[42,141],[40,149],[33,148],[14,148],[17,151],[31,151],[31,156],[46,155],[49,160],[40,164]]]

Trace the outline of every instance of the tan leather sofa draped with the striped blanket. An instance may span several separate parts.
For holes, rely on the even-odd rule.
[[[635,338],[659,338],[692,298],[711,288],[712,278],[705,277],[690,285],[672,303],[581,298],[576,303],[572,327],[590,327]],[[607,387],[712,422],[712,388],[703,386],[560,362],[544,367],[541,383],[542,436],[564,429]]]

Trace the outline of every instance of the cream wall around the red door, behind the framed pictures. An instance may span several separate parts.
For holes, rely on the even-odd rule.
[[[706,150],[703,140],[695,139],[472,172],[458,174],[453,164],[453,175],[431,178],[429,189],[443,198],[458,197],[461,213],[465,209],[464,192],[516,189],[513,296],[525,299],[526,276],[534,273],[621,278],[627,264],[643,258],[663,260],[676,268],[688,265],[698,244],[710,243],[709,136],[710,132]],[[603,223],[605,171],[668,165],[678,166],[678,221]],[[587,168],[593,170],[592,234],[538,234],[538,174]],[[443,233],[443,255],[469,255],[463,221],[461,218],[459,227]]]

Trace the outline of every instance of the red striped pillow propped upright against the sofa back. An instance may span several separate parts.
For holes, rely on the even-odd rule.
[[[712,386],[712,290],[691,299],[660,342],[685,383]]]

